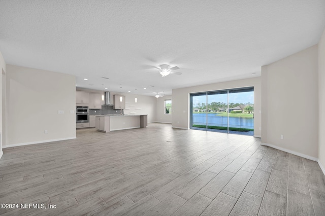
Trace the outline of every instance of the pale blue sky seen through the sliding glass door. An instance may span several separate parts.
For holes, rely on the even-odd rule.
[[[195,96],[193,97],[193,104],[206,103],[206,96]],[[215,94],[208,96],[208,103],[211,102],[224,102],[227,103],[227,94]],[[229,103],[252,103],[254,104],[254,92],[241,92],[229,94]]]

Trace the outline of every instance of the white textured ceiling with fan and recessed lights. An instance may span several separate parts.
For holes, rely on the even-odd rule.
[[[7,64],[152,96],[261,76],[262,65],[317,44],[324,28],[324,0],[0,0]],[[182,75],[148,73],[160,64]]]

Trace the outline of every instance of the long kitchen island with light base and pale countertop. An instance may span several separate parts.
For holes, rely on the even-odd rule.
[[[146,128],[148,115],[96,115],[96,129],[101,132]]]

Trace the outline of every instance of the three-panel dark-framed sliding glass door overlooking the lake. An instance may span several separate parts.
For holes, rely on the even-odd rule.
[[[253,135],[254,89],[190,94],[190,128]]]

